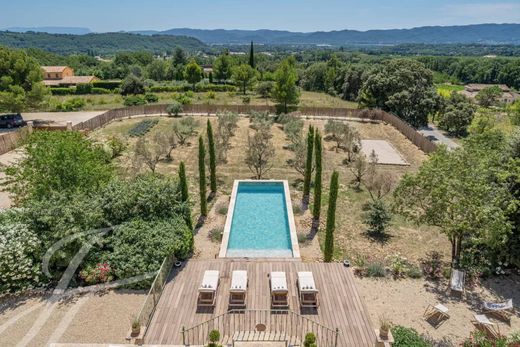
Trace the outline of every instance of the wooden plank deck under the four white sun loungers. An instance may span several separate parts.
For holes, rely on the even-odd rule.
[[[212,309],[197,307],[197,289],[205,270],[220,271],[217,301]],[[229,287],[233,270],[248,272],[247,315],[225,314],[229,309]],[[271,271],[285,271],[289,288],[289,311],[292,312],[280,314],[270,311],[268,274]],[[296,286],[298,271],[312,271],[314,274],[316,286],[320,291],[320,307],[317,310],[302,310],[299,306]],[[218,322],[217,319],[213,319],[217,316],[222,317],[218,318]],[[210,323],[201,324],[206,321]],[[232,342],[232,335],[247,335],[251,334],[251,331],[251,335],[258,335],[254,334],[257,323],[267,326],[265,334],[276,333],[280,340],[287,338],[289,342],[296,344],[301,343],[302,336],[307,331],[330,335],[336,328],[339,329],[337,346],[374,346],[376,341],[374,327],[356,289],[352,271],[342,264],[303,263],[295,260],[215,259],[190,260],[181,269],[171,271],[146,332],[145,343],[180,345],[183,343],[183,327],[188,329],[201,324],[200,331],[196,334],[202,334],[202,338],[205,338],[209,330],[218,328],[223,334],[221,343],[227,344]],[[319,330],[320,326],[322,333]],[[195,344],[194,340],[185,342]],[[333,346],[334,343],[327,340],[327,343],[321,345]]]

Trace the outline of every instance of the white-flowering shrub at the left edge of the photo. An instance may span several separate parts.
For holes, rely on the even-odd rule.
[[[26,225],[0,225],[0,293],[33,288],[41,283],[40,240]]]

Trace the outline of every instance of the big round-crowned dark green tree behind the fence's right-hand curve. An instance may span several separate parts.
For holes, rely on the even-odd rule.
[[[432,72],[410,59],[394,59],[376,66],[360,90],[359,101],[402,118],[412,126],[428,123],[440,96],[433,86]]]

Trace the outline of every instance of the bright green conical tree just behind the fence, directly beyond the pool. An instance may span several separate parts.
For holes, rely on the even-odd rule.
[[[298,74],[294,58],[291,57],[282,61],[274,77],[273,98],[283,106],[283,111],[287,113],[288,106],[297,105],[300,98],[300,91],[296,85]]]

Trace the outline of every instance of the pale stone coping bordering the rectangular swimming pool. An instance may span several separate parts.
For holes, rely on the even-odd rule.
[[[294,222],[294,214],[292,209],[292,201],[291,201],[291,192],[289,190],[289,181],[287,180],[235,180],[233,182],[233,190],[231,192],[231,198],[229,200],[228,206],[228,214],[226,217],[226,224],[224,225],[224,232],[222,234],[222,242],[220,244],[219,258],[249,258],[249,257],[226,257],[227,247],[229,243],[229,236],[231,233],[231,223],[233,221],[233,214],[235,213],[235,202],[236,196],[238,193],[238,185],[240,182],[250,182],[250,183],[282,183],[284,187],[284,195],[285,195],[285,205],[287,207],[287,219],[289,222],[289,234],[291,237],[291,248],[292,248],[292,257],[291,258],[276,258],[276,259],[295,259],[300,258],[300,246],[298,245],[298,237],[296,235],[296,223]],[[251,258],[251,259],[262,259]]]

